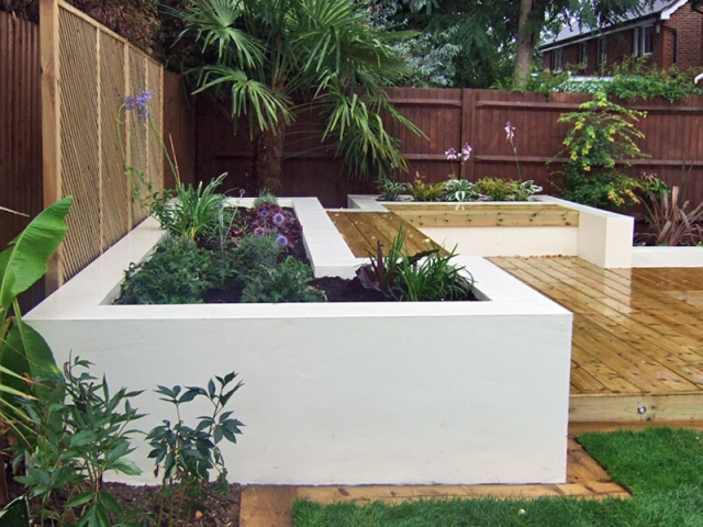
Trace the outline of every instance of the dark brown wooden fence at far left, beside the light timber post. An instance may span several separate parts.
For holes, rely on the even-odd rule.
[[[0,12],[0,250],[42,211],[40,31]],[[43,284],[21,299],[23,310],[43,298]]]

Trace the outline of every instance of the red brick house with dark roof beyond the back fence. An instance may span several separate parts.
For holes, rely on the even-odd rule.
[[[641,14],[628,14],[617,24],[587,29],[576,23],[539,46],[546,69],[567,64],[584,66],[593,75],[625,57],[646,57],[650,66],[680,70],[703,67],[703,13],[688,0],[658,0]]]

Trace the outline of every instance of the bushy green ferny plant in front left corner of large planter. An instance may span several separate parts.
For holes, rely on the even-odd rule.
[[[212,287],[213,254],[192,240],[167,237],[154,254],[131,264],[120,285],[118,304],[197,304]]]

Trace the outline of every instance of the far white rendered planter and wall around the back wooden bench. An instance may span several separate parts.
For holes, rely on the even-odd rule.
[[[377,195],[349,195],[349,209],[386,211],[386,204],[413,206],[412,202],[378,202]],[[634,220],[549,195],[534,195],[535,211],[558,204],[579,212],[578,226],[422,227],[420,231],[447,249],[470,256],[578,256],[604,268],[629,268]],[[445,203],[464,210],[487,203]],[[524,206],[525,202],[501,203]]]

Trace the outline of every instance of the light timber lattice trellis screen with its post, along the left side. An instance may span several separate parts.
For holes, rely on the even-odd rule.
[[[150,104],[161,130],[163,68],[127,41],[68,3],[40,3],[44,202],[72,195],[68,235],[47,274],[60,285],[145,217],[131,200],[123,155],[163,186],[163,156],[148,123],[118,110],[126,94],[153,90]]]

